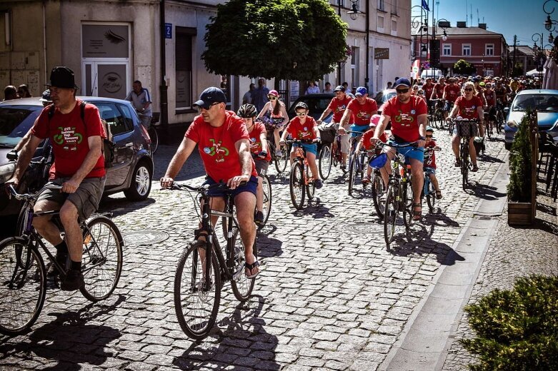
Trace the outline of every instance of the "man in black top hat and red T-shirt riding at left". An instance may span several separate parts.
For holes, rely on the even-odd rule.
[[[105,181],[101,148],[106,134],[99,110],[92,104],[82,108],[82,102],[76,99],[78,87],[74,83],[74,71],[67,67],[55,67],[46,85],[49,86],[53,105],[43,109],[31,128],[31,138],[21,150],[11,183],[19,183],[37,146],[49,138],[55,160],[47,184],[61,185],[61,190],[41,193],[34,211],[60,210],[65,240],[61,238],[58,227],[51,222],[51,216],[35,217],[33,225],[54,245],[60,265],[66,264],[69,254],[70,267],[61,289],[77,290],[84,284],[81,273],[83,236],[78,219],[85,220],[99,207]],[[56,274],[55,268],[51,267],[49,273]]]

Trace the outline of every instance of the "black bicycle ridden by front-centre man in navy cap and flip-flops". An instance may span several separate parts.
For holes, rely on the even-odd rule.
[[[206,241],[194,240],[186,246],[174,275],[176,318],[186,335],[200,340],[209,335],[215,325],[224,282],[231,281],[234,296],[245,302],[254,290],[256,278],[247,278],[244,274],[244,245],[241,241],[238,243],[239,224],[234,216],[234,198],[226,183],[199,187],[173,183],[171,189],[198,193],[199,198],[196,200],[204,201],[200,218],[201,228],[208,233]],[[209,190],[226,191],[224,211],[211,210]],[[227,220],[225,255],[211,223],[211,216]],[[254,255],[257,255],[255,241]],[[207,256],[211,258],[206,259]]]

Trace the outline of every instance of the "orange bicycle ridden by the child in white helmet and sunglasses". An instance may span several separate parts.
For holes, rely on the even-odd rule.
[[[285,143],[292,145],[293,143],[316,143],[312,141],[304,141],[300,139],[294,139],[290,141],[285,141]],[[308,159],[306,157],[306,150],[299,146],[296,148],[295,158],[291,167],[291,174],[289,176],[289,189],[291,193],[291,201],[297,210],[300,210],[304,205],[304,196],[308,195],[309,200],[314,198],[314,190],[316,185],[314,184],[315,176],[309,176],[309,165]],[[305,192],[306,191],[306,192]]]

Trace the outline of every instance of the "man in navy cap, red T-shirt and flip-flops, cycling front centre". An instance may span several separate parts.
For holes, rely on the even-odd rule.
[[[259,274],[259,263],[252,246],[256,238],[254,208],[256,207],[256,187],[258,185],[256,166],[250,154],[249,134],[244,120],[232,111],[226,111],[226,97],[221,89],[206,88],[194,103],[199,116],[184,134],[184,139],[174,154],[165,176],[161,178],[161,188],[169,188],[182,165],[198,146],[201,161],[207,173],[206,184],[226,182],[234,195],[236,216],[239,221],[240,237],[244,244],[246,277]],[[224,209],[224,193],[210,191],[211,208]],[[195,231],[196,238],[207,237],[207,230],[201,225]],[[201,259],[205,253],[200,251]]]

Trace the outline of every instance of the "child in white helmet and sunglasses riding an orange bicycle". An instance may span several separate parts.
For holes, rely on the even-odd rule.
[[[308,166],[310,167],[312,176],[314,176],[315,179],[314,185],[316,186],[316,189],[322,188],[322,180],[319,178],[318,166],[316,165],[316,156],[318,154],[318,145],[316,142],[320,141],[318,125],[312,116],[308,116],[307,103],[297,103],[297,106],[294,106],[294,112],[297,113],[297,117],[289,121],[287,128],[285,128],[285,131],[281,136],[279,145],[285,145],[285,138],[287,138],[287,135],[289,134],[293,139],[308,141],[309,143],[293,143],[291,151],[291,164],[296,156],[297,147],[302,146],[302,148],[306,151]]]

